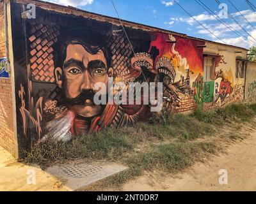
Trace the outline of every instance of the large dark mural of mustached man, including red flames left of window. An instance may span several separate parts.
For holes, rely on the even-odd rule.
[[[36,8],[36,19],[25,20],[18,15],[22,7],[12,4],[13,41],[20,45],[13,50],[17,127],[24,148],[49,135],[68,141],[155,114],[152,104],[143,105],[142,91],[140,105],[110,103],[109,92],[103,94],[106,105],[96,105],[97,82],[113,97],[118,82],[126,91],[129,82],[163,82],[163,109],[156,113],[161,116],[213,100],[211,84],[202,94],[203,41],[125,27],[130,45],[120,25],[41,8]]]

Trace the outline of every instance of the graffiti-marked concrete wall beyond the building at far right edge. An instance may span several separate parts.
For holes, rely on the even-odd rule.
[[[245,101],[256,103],[256,62],[247,63]]]

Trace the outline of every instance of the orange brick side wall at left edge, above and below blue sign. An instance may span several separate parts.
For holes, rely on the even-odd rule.
[[[0,3],[0,57],[6,57],[3,3]],[[0,145],[15,154],[11,78],[0,77]]]

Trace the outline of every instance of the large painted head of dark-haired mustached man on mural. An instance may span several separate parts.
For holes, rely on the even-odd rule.
[[[108,87],[113,68],[109,51],[100,36],[88,30],[67,31],[56,44],[54,66],[56,84],[72,111],[86,118],[102,112],[102,106],[93,103],[93,87],[97,82]]]

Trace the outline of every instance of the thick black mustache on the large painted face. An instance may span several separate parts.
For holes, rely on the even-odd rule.
[[[79,94],[76,98],[66,98],[65,97],[65,103],[67,105],[84,105],[84,102],[88,99],[93,101],[95,95],[95,91],[93,89],[84,89],[81,94]]]

